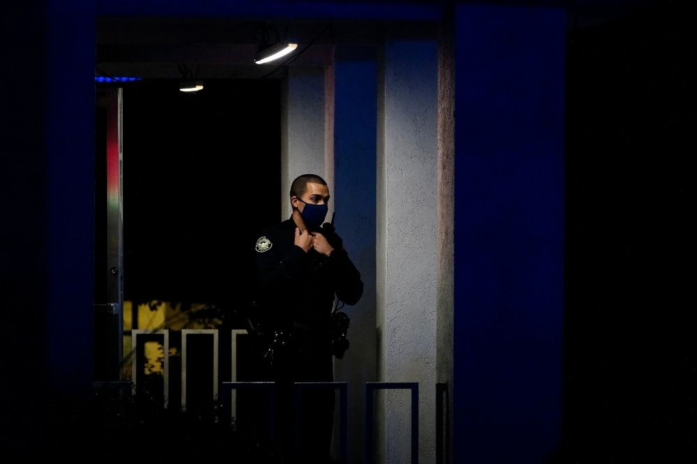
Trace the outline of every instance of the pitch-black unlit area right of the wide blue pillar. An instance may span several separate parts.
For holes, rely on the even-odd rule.
[[[569,33],[562,462],[695,459],[695,36],[677,6]]]

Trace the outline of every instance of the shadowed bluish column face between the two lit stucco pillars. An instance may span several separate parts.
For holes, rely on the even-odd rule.
[[[376,49],[339,47],[333,68],[335,226],[365,285],[360,302],[342,309],[351,318],[351,344],[334,363],[335,380],[348,382],[348,461],[358,463],[365,452],[365,383],[376,380]]]

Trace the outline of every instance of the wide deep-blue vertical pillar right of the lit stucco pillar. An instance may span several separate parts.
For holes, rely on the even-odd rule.
[[[454,458],[560,444],[563,10],[457,8]]]

